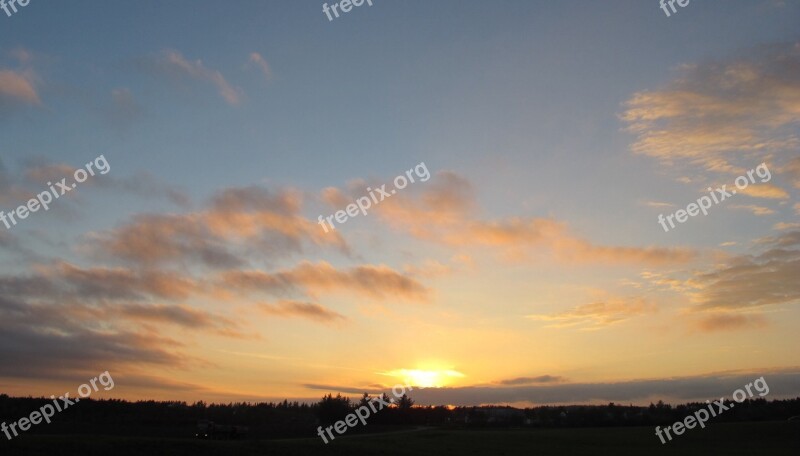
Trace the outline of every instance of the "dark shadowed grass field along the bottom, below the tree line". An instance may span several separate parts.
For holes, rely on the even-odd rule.
[[[282,441],[201,441],[108,436],[22,436],[0,454],[305,456],[305,455],[786,455],[800,454],[800,423],[719,423],[662,445],[651,427],[519,430],[437,430]]]

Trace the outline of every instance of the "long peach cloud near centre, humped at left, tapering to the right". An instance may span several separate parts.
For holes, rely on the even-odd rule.
[[[354,181],[345,190],[327,188],[321,199],[341,207],[362,195],[366,186],[364,181]],[[382,201],[375,211],[394,230],[416,238],[449,247],[489,248],[507,258],[549,255],[566,263],[665,265],[686,263],[697,256],[686,248],[596,245],[551,218],[479,218],[472,183],[452,171],[440,171],[424,187]]]

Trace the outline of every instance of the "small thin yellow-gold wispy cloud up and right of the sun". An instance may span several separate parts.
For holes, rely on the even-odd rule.
[[[555,328],[582,326],[584,329],[600,329],[657,311],[655,304],[643,298],[618,298],[582,304],[553,314],[528,315],[527,318],[552,322],[550,326]]]

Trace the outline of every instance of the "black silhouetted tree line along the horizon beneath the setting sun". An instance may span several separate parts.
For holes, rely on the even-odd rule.
[[[385,401],[389,397],[384,395]],[[313,437],[317,426],[343,419],[372,397],[359,399],[340,394],[325,395],[319,402],[232,402],[193,404],[179,401],[124,401],[91,398],[81,400],[59,414],[52,423],[35,426],[29,432],[42,434],[109,434],[159,437],[194,436],[200,420],[220,425],[249,427],[250,438]],[[45,403],[46,398],[0,395],[0,421],[14,422]],[[655,426],[682,420],[705,403],[672,406],[659,401],[649,406],[570,405],[513,407],[418,406],[408,396],[369,417],[366,426],[353,432],[376,432],[398,426],[448,427],[602,427]],[[767,401],[747,399],[709,423],[731,421],[787,420],[800,416],[800,398]]]

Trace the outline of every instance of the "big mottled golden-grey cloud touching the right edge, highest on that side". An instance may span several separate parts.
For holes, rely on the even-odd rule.
[[[786,162],[800,147],[798,68],[795,43],[682,65],[665,87],[625,103],[621,119],[636,138],[631,149],[668,165],[731,175],[768,155]],[[764,191],[757,188],[751,192]]]

